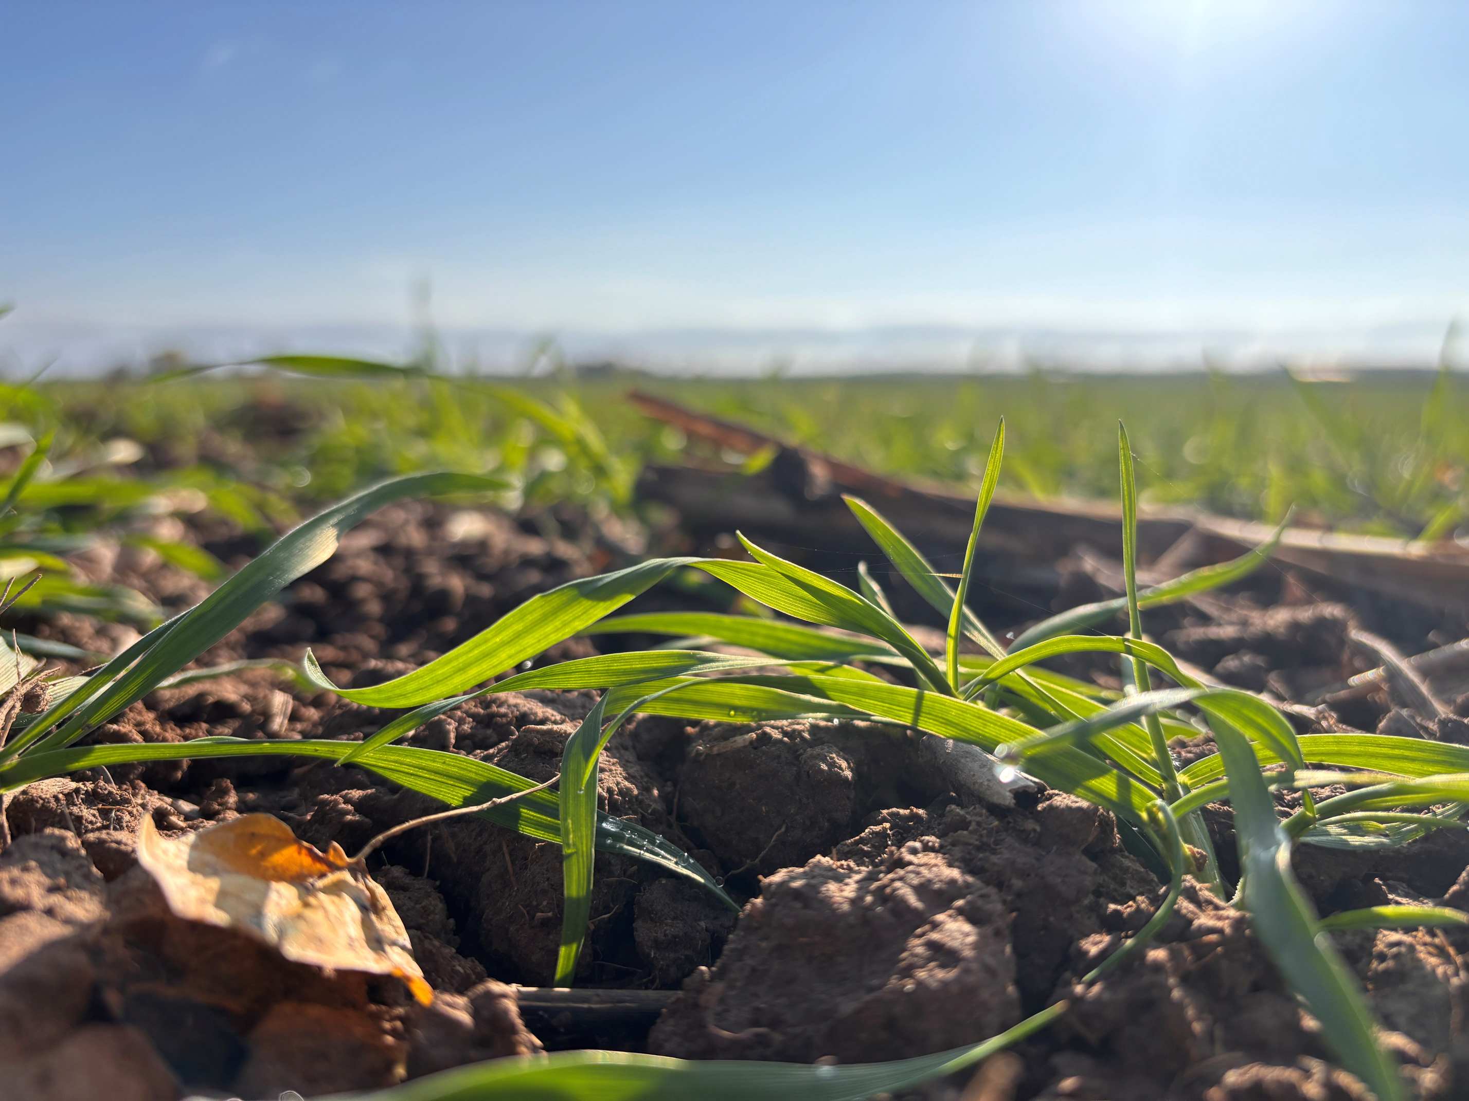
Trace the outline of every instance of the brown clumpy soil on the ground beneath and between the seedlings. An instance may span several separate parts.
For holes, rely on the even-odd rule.
[[[248,537],[217,521],[169,534],[190,533],[231,564],[253,552]],[[395,506],[204,664],[300,658],[310,644],[339,683],[372,684],[445,652],[527,596],[638,550],[635,531],[585,517]],[[1061,567],[1052,593],[1059,605],[1109,595],[1094,570]],[[101,553],[88,570],[170,609],[203,593],[132,549]],[[1319,596],[1268,574],[1240,595],[1159,609],[1150,624],[1185,661],[1285,700],[1362,668],[1347,643],[1356,622],[1409,650],[1429,644],[1422,634],[1416,644],[1404,639],[1409,628],[1384,621],[1381,609]],[[18,625],[95,649],[135,637],[75,617]],[[591,642],[573,640],[548,659],[592,652]],[[1108,661],[1077,658],[1066,669],[1103,683],[1115,675]],[[495,696],[426,724],[408,744],[545,780],[593,700]],[[1341,713],[1302,711],[1299,721],[1366,730],[1406,722],[1403,733],[1453,734],[1444,719],[1393,715],[1403,715],[1403,702],[1379,693]],[[286,691],[269,674],[248,674],[153,693],[95,737],[355,740],[382,721],[331,693]],[[1143,959],[1074,989],[1152,913],[1158,881],[1127,854],[1106,812],[1044,790],[1008,807],[961,806],[911,750],[908,735],[865,724],[643,718],[617,734],[601,768],[602,809],[671,838],[745,907],[736,919],[649,865],[598,856],[579,984],[677,994],[651,1032],[646,1019],[541,1014],[542,1039],[682,1057],[899,1058],[992,1035],[1075,995],[1058,1026],[1021,1045],[1019,1070],[989,1075],[980,1097],[1365,1097],[1331,1066],[1315,1022],[1282,988],[1247,922],[1191,885]],[[1180,750],[1197,756],[1208,738]],[[433,809],[361,769],[288,757],[95,769],[9,796],[0,1082],[41,1101],[264,1098],[284,1089],[310,1097],[541,1050],[505,984],[546,985],[554,970],[561,869],[549,846],[457,819],[411,831],[373,857],[372,873],[438,991],[427,1009],[394,979],[325,975],[173,919],[134,857],[145,816],[176,832],[263,810],[313,844],[353,851]],[[1213,821],[1228,857],[1228,809]],[[1302,846],[1297,868],[1324,912],[1396,900],[1469,904],[1463,831],[1387,857]],[[1416,1095],[1469,1094],[1460,957],[1469,937],[1384,931],[1338,940],[1393,1031],[1390,1047]],[[961,1076],[921,1092],[958,1098],[965,1085]]]

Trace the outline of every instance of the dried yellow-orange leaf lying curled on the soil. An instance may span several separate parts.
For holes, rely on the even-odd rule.
[[[238,929],[295,963],[397,975],[433,998],[388,894],[335,843],[323,853],[270,815],[162,837],[145,815],[138,863],[185,920]]]

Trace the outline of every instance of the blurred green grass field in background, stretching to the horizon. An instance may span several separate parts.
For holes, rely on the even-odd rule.
[[[530,504],[627,504],[645,461],[687,442],[643,418],[632,388],[886,474],[977,486],[987,426],[1011,426],[1012,486],[1109,499],[1119,417],[1143,498],[1224,515],[1403,537],[1465,527],[1469,393],[1440,371],[1344,380],[1266,374],[665,379],[300,379],[282,374],[51,382],[0,390],[0,421],[57,429],[57,452],[138,440],[160,465],[244,479],[303,502],[430,467],[519,476]],[[536,401],[524,402],[523,395]],[[62,443],[71,446],[62,446]]]

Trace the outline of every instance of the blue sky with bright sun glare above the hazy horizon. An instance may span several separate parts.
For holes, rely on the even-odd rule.
[[[1426,0],[19,3],[0,336],[401,329],[427,280],[633,354],[1416,349],[1469,307],[1466,46]]]

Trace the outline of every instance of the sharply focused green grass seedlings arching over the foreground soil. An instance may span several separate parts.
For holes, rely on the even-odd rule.
[[[0,790],[15,793],[85,769],[184,759],[291,756],[354,765],[448,807],[420,815],[389,831],[391,835],[445,816],[474,815],[560,847],[561,932],[554,976],[546,978],[557,986],[573,986],[593,922],[598,853],[652,863],[718,906],[740,909],[726,884],[693,854],[652,829],[599,809],[604,750],[635,716],[755,724],[755,730],[789,721],[842,722],[848,730],[884,740],[889,747],[930,755],[940,782],[955,791],[989,790],[1003,800],[1006,791],[1033,777],[1050,791],[1065,793],[1077,807],[1108,812],[1106,821],[1114,825],[1106,829],[1115,831],[1109,834],[1112,847],[1131,853],[1165,888],[1149,913],[1136,913],[1124,931],[1099,944],[1091,964],[1065,997],[1018,1023],[1012,1007],[992,1014],[975,1007],[972,1028],[958,1022],[961,1035],[972,1039],[934,1054],[811,1064],[779,1061],[789,1053],[758,1045],[749,1054],[762,1061],[739,1063],[563,1051],[448,1070],[379,1097],[439,1101],[602,1097],[617,1091],[627,1097],[799,1092],[812,1098],[865,1098],[902,1091],[978,1064],[1061,1022],[1086,1028],[1089,1006],[1103,976],[1136,963],[1161,938],[1174,944],[1177,931],[1166,931],[1181,920],[1196,928],[1210,920],[1219,928],[1247,928],[1284,988],[1318,1022],[1335,1063],[1381,1101],[1406,1097],[1397,1060],[1384,1045],[1360,982],[1329,934],[1462,925],[1469,918],[1447,907],[1374,904],[1338,912],[1328,926],[1296,882],[1291,851],[1306,844],[1376,853],[1407,846],[1435,829],[1462,828],[1459,816],[1469,804],[1469,747],[1356,733],[1303,735],[1262,696],[1185,668],[1150,642],[1144,634],[1146,609],[1243,578],[1268,558],[1271,546],[1155,587],[1140,587],[1137,495],[1125,432],[1119,439],[1125,596],[1053,615],[1002,644],[971,611],[967,596],[975,574],[980,527],[999,482],[1003,443],[1002,423],[984,467],[964,567],[952,587],[876,508],[849,501],[893,570],[946,621],[940,646],[920,642],[896,618],[871,574],[864,571],[861,584],[849,589],[742,540],[748,552],[742,559],[658,558],[567,581],[532,596],[441,656],[380,683],[339,684],[308,652],[294,671],[301,683],[332,691],[364,711],[398,712],[361,741],[206,737],[107,744],[93,737],[131,705],[179,684],[181,678],[238,671],[239,664],[190,666],[282,589],[322,565],[347,531],[375,509],[413,498],[505,489],[504,483],[479,476],[413,474],[375,486],[307,520],[192,608],[147,631],[85,675],[38,681],[34,658],[22,655],[19,644],[6,647],[0,653],[0,677],[10,683],[0,712],[6,730],[0,744]],[[22,470],[16,482],[31,474]],[[761,611],[616,615],[661,581],[690,571],[730,586]],[[1099,631],[1119,614],[1127,617],[1125,633]],[[671,642],[655,649],[536,664],[548,650],[582,634],[654,634]],[[1044,666],[1068,655],[1114,655],[1122,687],[1105,690]],[[536,781],[461,753],[398,744],[442,716],[491,697],[548,690],[598,693],[595,700],[586,697],[579,725],[566,738],[549,780]],[[1171,750],[1181,737],[1199,747],[1187,762],[1175,759]],[[757,741],[749,738],[751,746]],[[1218,825],[1216,809],[1222,803],[1232,809],[1228,829]],[[1282,818],[1281,807],[1288,809],[1288,816]],[[1094,834],[1102,819],[1094,810],[1087,813],[1078,850],[1099,844]],[[1047,815],[1042,821],[1075,819],[1075,812],[1064,810],[1059,803]],[[925,819],[924,829],[914,834],[912,822],[889,818],[871,829],[889,841],[930,834],[961,838],[977,829],[983,832],[977,822],[974,816],[948,824]],[[375,838],[348,862],[354,875],[366,875],[366,856],[391,835]],[[752,851],[751,865],[757,866],[779,838],[776,831],[768,846]],[[840,859],[861,863],[862,838],[868,834],[842,846]],[[912,844],[921,849],[927,843]],[[934,844],[953,846],[956,853],[962,849],[959,840]],[[805,871],[821,873],[820,868]],[[777,876],[767,885],[767,894],[789,887]],[[980,904],[972,900],[990,890],[981,887],[965,888],[971,900],[967,904]],[[999,912],[1014,907],[1015,900],[995,897],[987,904]],[[759,900],[751,903],[746,920],[757,920],[759,907]],[[1005,1026],[981,1035],[987,1020]],[[752,1028],[758,1031],[758,1022]]]

